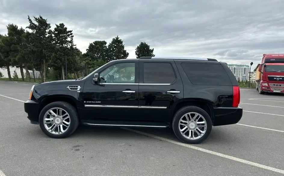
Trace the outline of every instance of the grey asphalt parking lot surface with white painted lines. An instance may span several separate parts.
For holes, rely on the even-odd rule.
[[[187,145],[171,129],[81,126],[46,136],[23,109],[32,85],[0,82],[0,176],[284,175],[284,96],[241,89],[238,124]]]

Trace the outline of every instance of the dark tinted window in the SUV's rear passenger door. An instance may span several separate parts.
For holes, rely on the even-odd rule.
[[[170,63],[144,63],[144,83],[148,84],[169,84],[174,82],[174,69]]]

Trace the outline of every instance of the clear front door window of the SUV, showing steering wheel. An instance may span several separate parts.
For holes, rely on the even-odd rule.
[[[100,72],[100,83],[135,83],[135,63],[117,63]]]

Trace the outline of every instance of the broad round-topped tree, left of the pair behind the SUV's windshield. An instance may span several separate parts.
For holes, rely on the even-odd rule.
[[[107,46],[106,41],[94,41],[93,43],[89,44],[88,49],[86,49],[86,54],[90,58],[91,61],[95,60],[107,60]]]

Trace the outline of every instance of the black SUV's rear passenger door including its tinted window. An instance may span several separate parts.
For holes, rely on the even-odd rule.
[[[172,118],[173,105],[183,95],[183,84],[174,60],[139,60],[139,119],[168,122]]]

